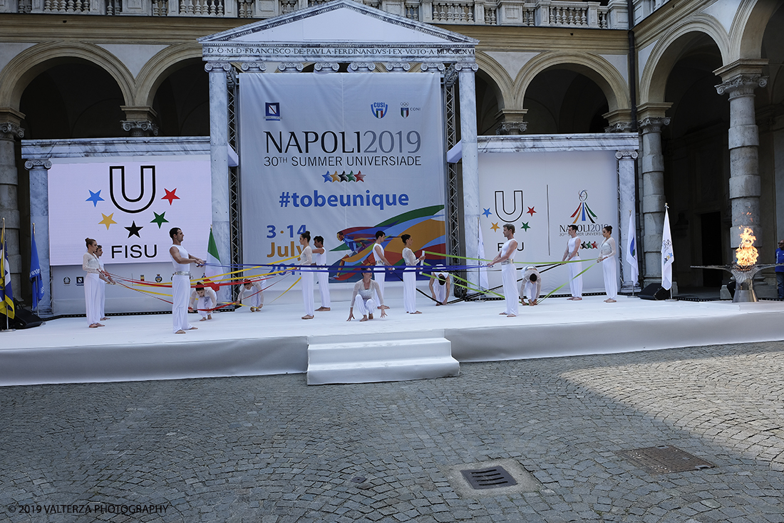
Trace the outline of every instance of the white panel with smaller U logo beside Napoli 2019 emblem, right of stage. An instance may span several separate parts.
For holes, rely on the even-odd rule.
[[[573,223],[583,269],[593,264],[583,274],[583,292],[604,292],[601,264],[595,262],[604,241],[602,227],[611,225],[616,249],[620,245],[615,151],[479,154],[479,187],[486,258],[499,252],[505,242],[503,224],[512,223],[517,229],[517,267],[561,261],[567,227]],[[565,265],[546,271],[543,295],[563,284],[557,294],[568,294],[568,281]],[[499,271],[490,272],[489,284],[501,285]]]

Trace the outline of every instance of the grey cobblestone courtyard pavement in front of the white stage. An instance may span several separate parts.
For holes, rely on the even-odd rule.
[[[3,387],[0,520],[784,521],[782,369],[784,343],[752,343],[401,383]],[[616,454],[655,445],[716,467]],[[491,459],[540,485],[466,496],[452,467]]]

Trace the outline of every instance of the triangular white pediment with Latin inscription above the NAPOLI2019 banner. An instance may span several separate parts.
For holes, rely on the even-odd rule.
[[[198,40],[206,61],[474,63],[478,40],[351,0],[261,20]]]

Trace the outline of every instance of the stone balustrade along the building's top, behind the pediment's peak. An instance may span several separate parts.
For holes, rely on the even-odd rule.
[[[659,3],[666,0],[651,0]],[[328,0],[17,0],[0,13],[270,18]],[[427,24],[626,29],[626,1],[565,0],[364,0],[365,5]]]

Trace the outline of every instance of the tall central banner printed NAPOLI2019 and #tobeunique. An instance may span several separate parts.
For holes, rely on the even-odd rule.
[[[325,238],[332,281],[375,262],[379,230],[390,263],[401,234],[445,252],[437,74],[241,74],[240,111],[245,263],[297,256],[303,231]]]

